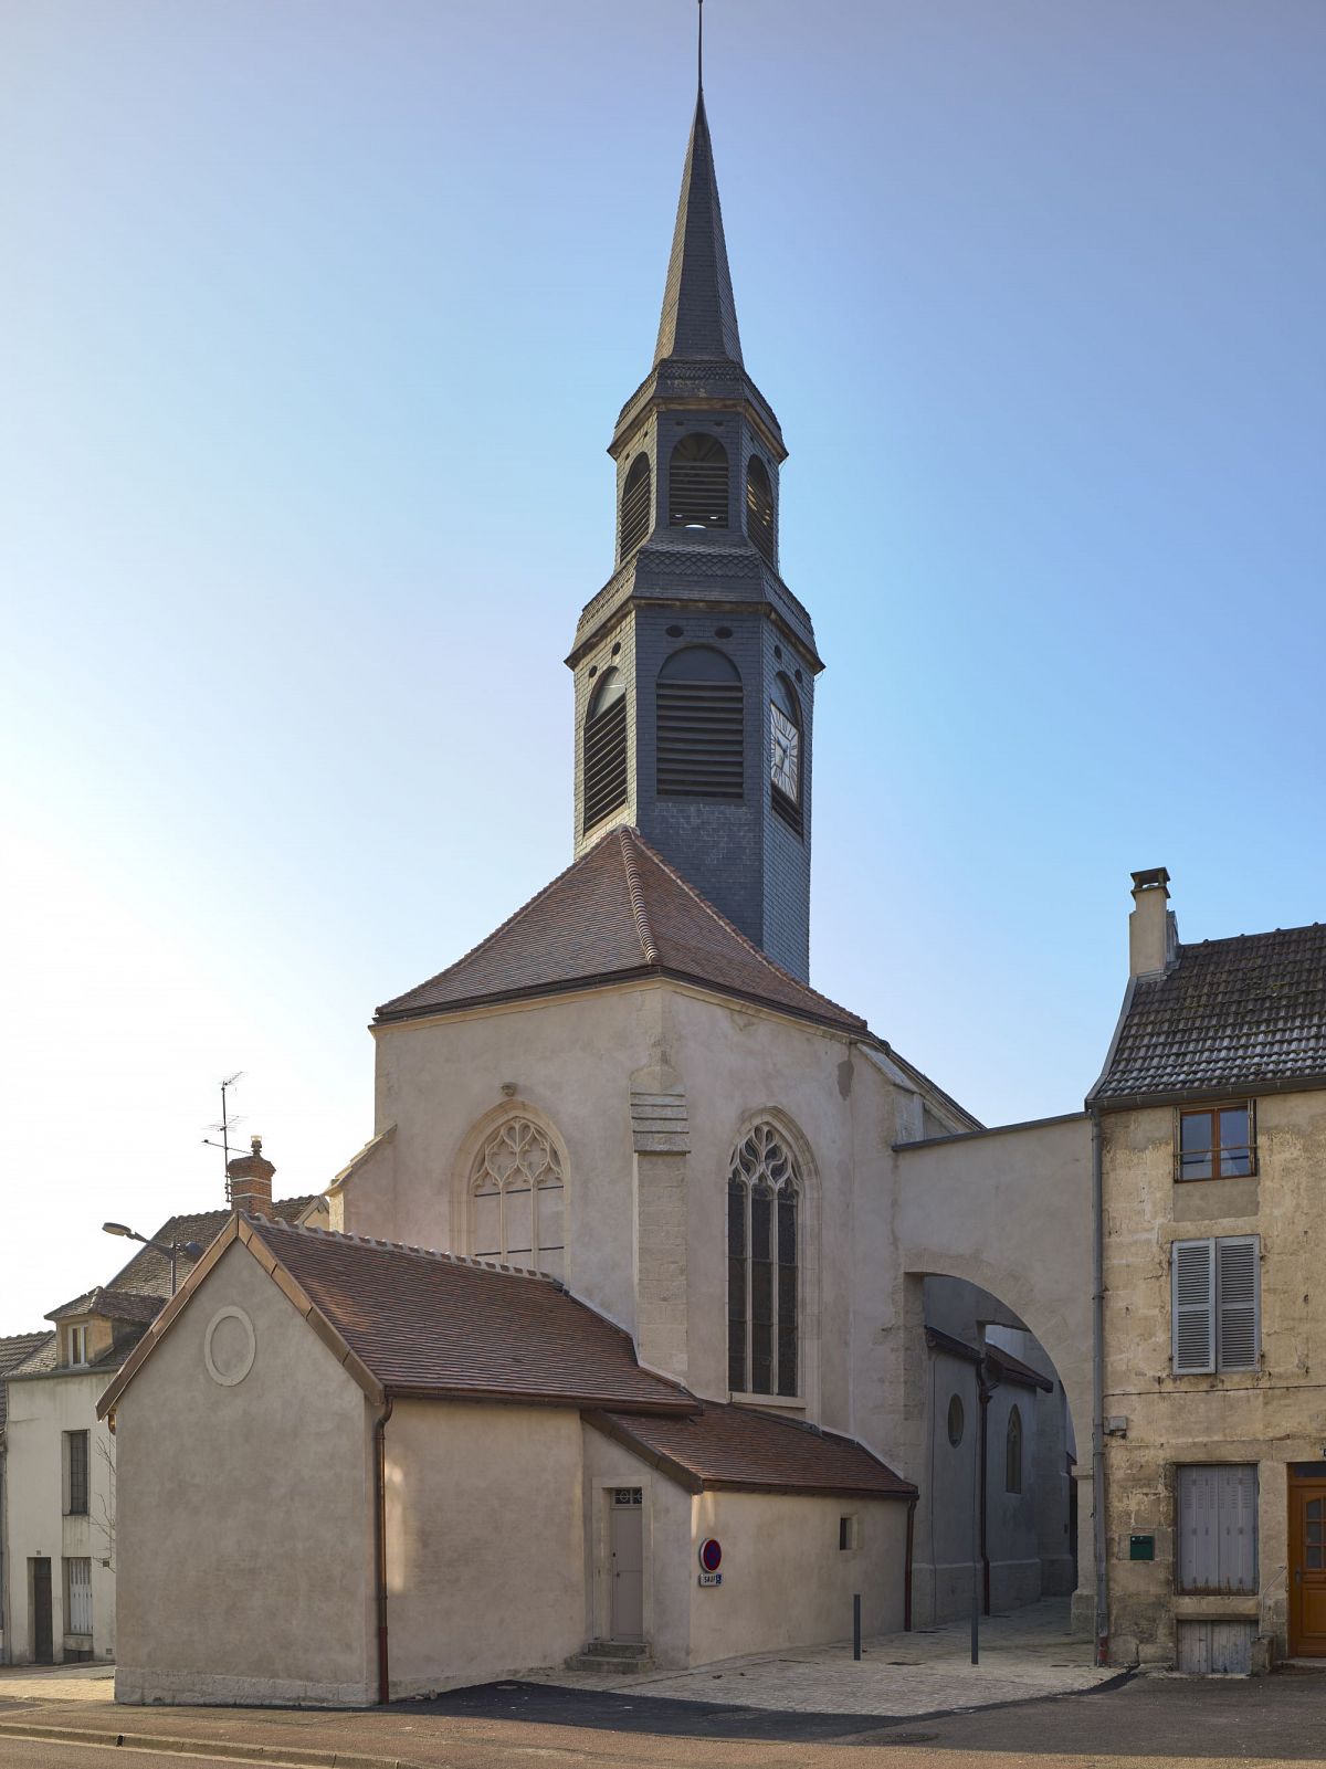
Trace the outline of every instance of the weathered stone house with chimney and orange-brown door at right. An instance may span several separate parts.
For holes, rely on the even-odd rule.
[[[1110,1654],[1326,1658],[1326,925],[1181,945],[1135,872],[1100,1113]]]

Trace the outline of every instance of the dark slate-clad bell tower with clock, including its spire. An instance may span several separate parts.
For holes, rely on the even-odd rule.
[[[810,969],[810,616],[778,573],[787,449],[746,373],[704,87],[654,363],[608,446],[617,568],[575,676],[576,854],[631,823],[803,982]]]

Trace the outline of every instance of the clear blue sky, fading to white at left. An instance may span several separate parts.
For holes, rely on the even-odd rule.
[[[1128,872],[1326,916],[1326,9],[711,0],[827,672],[813,976],[1075,1109]],[[0,1332],[371,1130],[377,1001],[569,858],[690,0],[9,0]]]

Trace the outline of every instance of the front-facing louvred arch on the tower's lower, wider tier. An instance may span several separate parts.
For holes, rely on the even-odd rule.
[[[663,798],[743,798],[744,697],[732,658],[684,646],[665,660],[654,695],[658,793]]]

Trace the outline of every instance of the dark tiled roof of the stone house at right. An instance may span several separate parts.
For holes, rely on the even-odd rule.
[[[1326,1086],[1326,925],[1179,945],[1137,976],[1087,1104]]]

